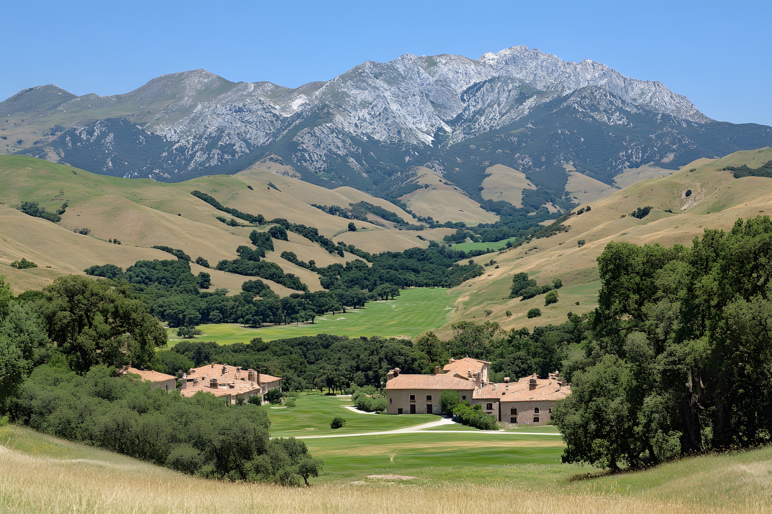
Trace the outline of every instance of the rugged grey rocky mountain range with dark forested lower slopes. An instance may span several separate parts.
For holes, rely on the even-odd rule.
[[[560,196],[567,169],[613,184],[645,164],[772,146],[772,127],[709,119],[661,82],[526,46],[476,60],[406,54],[296,89],[203,69],[116,96],[39,86],[0,114],[7,153],[94,173],[177,182],[273,166],[387,198],[421,187],[417,166],[476,200],[495,164]]]

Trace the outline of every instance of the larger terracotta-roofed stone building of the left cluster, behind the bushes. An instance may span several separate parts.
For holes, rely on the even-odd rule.
[[[227,398],[230,405],[235,405],[239,396],[244,401],[253,396],[266,401],[268,391],[275,388],[281,390],[281,381],[279,377],[264,375],[253,369],[243,370],[238,366],[212,363],[193,368],[182,375],[180,394],[189,398],[198,391],[204,391],[218,398]]]

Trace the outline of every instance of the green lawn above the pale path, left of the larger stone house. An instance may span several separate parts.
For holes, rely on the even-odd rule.
[[[298,437],[300,435],[355,434],[358,432],[382,432],[405,428],[422,423],[435,422],[439,416],[431,414],[381,415],[352,412],[340,405],[351,405],[350,396],[304,395],[297,398],[297,407],[262,405],[271,420],[272,437]],[[330,422],[335,416],[346,420],[343,428],[333,430]],[[313,428],[313,430],[311,429]]]

